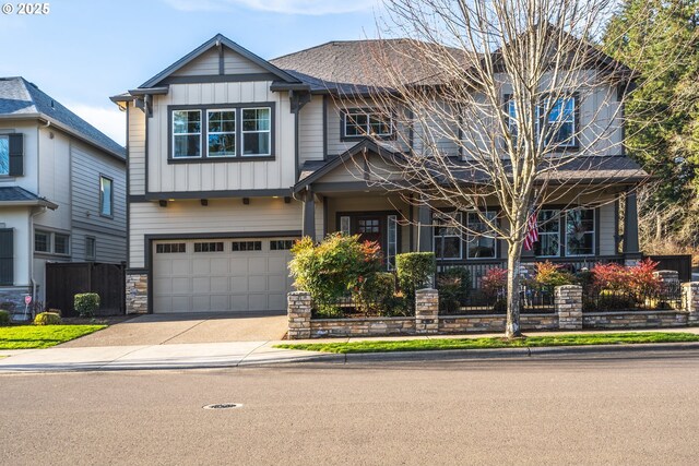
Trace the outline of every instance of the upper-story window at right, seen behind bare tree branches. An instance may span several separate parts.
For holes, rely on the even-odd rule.
[[[509,97],[506,98],[508,98],[509,131],[510,134],[517,136],[517,107],[513,99]],[[576,135],[579,131],[579,122],[577,121],[576,106],[577,98],[571,95],[558,98],[555,101],[544,99],[544,101],[536,107],[535,130],[537,134],[544,138],[546,144],[553,144],[557,147],[576,147],[578,145]],[[543,134],[542,123],[544,123]]]

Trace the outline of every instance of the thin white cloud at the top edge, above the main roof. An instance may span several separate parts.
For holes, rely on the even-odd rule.
[[[281,14],[323,15],[370,11],[379,0],[163,0],[180,11],[230,11],[235,7]]]

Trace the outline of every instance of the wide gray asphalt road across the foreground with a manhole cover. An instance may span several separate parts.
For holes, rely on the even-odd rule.
[[[0,377],[0,464],[697,464],[699,351]],[[244,406],[205,410],[211,403]]]

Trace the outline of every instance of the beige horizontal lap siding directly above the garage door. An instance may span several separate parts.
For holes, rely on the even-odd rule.
[[[282,198],[252,198],[249,205],[239,199],[212,199],[208,206],[199,201],[168,202],[167,207],[155,202],[130,203],[129,267],[145,266],[145,235],[240,232],[254,238],[256,231],[300,231],[301,206],[297,201],[286,204]]]

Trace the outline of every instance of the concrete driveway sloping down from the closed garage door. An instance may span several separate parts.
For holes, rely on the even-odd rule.
[[[61,347],[265,342],[286,333],[286,313],[146,314]]]

